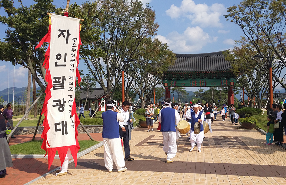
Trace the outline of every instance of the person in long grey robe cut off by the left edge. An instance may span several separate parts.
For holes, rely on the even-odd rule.
[[[3,105],[0,107],[3,107]],[[12,157],[6,140],[5,118],[0,114],[0,178],[6,177],[6,167],[12,167]]]

